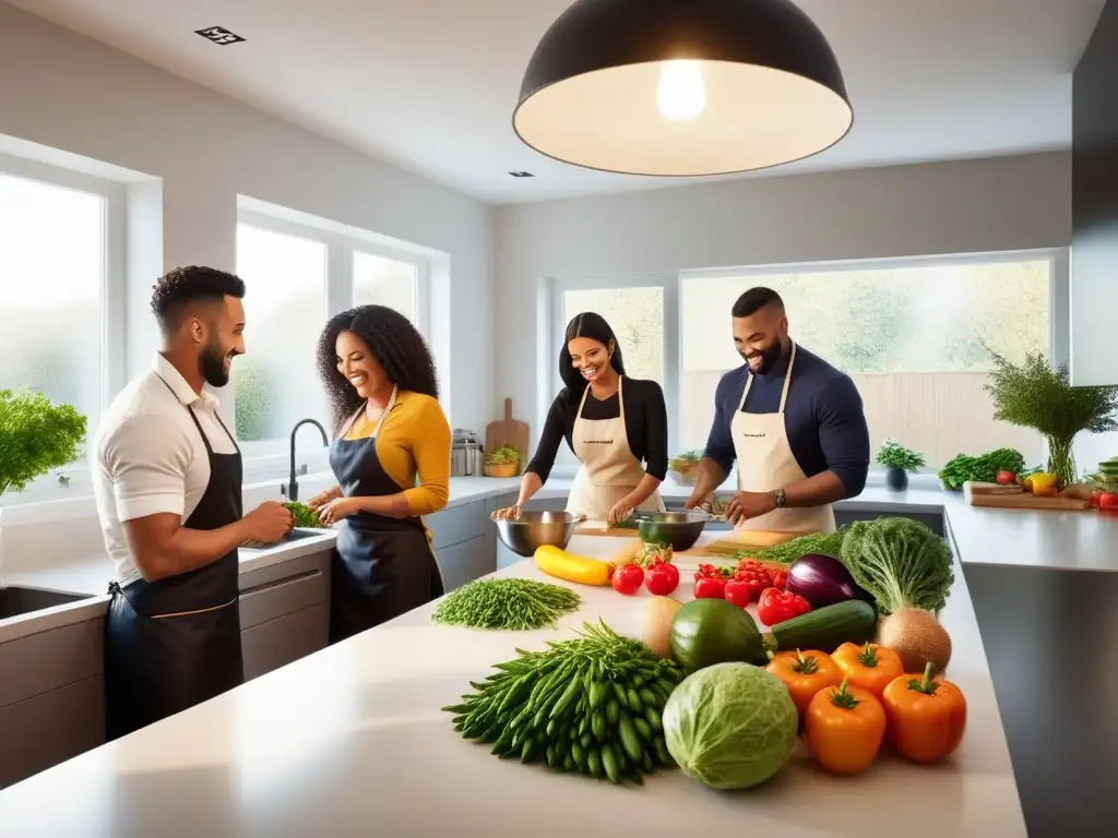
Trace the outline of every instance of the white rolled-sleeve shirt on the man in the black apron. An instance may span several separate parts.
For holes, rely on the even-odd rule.
[[[140,578],[123,522],[158,513],[173,513],[186,521],[209,484],[206,444],[188,407],[215,454],[236,453],[218,423],[217,397],[208,391],[196,393],[161,354],[113,399],[97,428],[93,488],[113,578],[122,585]]]

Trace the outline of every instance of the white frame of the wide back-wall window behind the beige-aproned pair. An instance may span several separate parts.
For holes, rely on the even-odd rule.
[[[551,277],[547,280],[548,334],[542,336],[540,346],[548,346],[548,352],[540,359],[538,370],[537,422],[543,427],[547,410],[555,394],[562,389],[558,366],[555,363],[552,347],[559,345],[566,323],[565,293],[567,291],[590,291],[607,288],[633,288],[660,286],[664,292],[664,399],[667,402],[667,445],[669,454],[680,450],[683,428],[683,400],[680,398],[680,384],[684,380],[684,358],[681,350],[683,336],[683,311],[681,298],[684,283],[688,279],[719,277],[756,277],[779,274],[836,273],[851,270],[883,270],[890,268],[912,267],[957,267],[960,265],[993,265],[1014,261],[1048,260],[1050,270],[1049,284],[1049,358],[1054,364],[1061,364],[1070,358],[1070,251],[1067,247],[1031,248],[1022,250],[979,251],[972,254],[906,256],[878,259],[835,259],[809,263],[783,263],[774,265],[754,265],[721,268],[689,268],[678,272],[655,272],[632,275],[607,275],[599,277]],[[727,336],[729,340],[729,335]],[[550,354],[549,354],[550,353]],[[675,362],[672,362],[674,356]],[[546,370],[543,369],[546,365]],[[546,372],[546,374],[543,374]],[[577,467],[578,461],[560,446],[556,464],[566,469]],[[871,461],[869,485],[883,482],[884,469]],[[939,482],[931,472],[921,472],[911,479],[915,486],[938,486]]]

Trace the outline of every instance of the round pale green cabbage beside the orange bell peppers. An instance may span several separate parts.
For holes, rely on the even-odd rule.
[[[663,714],[667,751],[712,789],[748,789],[774,777],[796,745],[788,688],[751,664],[714,664],[689,675]]]

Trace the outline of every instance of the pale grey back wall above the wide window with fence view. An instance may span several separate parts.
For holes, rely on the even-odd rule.
[[[1013,158],[758,178],[509,204],[496,211],[496,387],[532,426],[538,288],[546,277],[1067,247],[1071,156]],[[729,337],[728,337],[729,340]],[[539,358],[538,358],[539,362]],[[1081,461],[1114,440],[1090,440]],[[1086,441],[1086,440],[1084,440]],[[1109,456],[1109,455],[1108,455]]]

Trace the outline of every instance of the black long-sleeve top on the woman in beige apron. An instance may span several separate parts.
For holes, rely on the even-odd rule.
[[[664,391],[655,381],[626,375],[622,381],[622,392],[625,397],[625,435],[628,437],[629,450],[638,461],[645,464],[645,472],[662,480],[667,475],[667,408],[664,404]],[[575,450],[571,437],[581,397],[581,393],[571,393],[563,388],[551,402],[540,444],[525,469],[538,474],[544,483],[559,453],[559,442],[566,439],[570,449]],[[586,394],[584,419],[616,419],[619,416],[617,393],[603,401],[595,399],[593,393]]]

